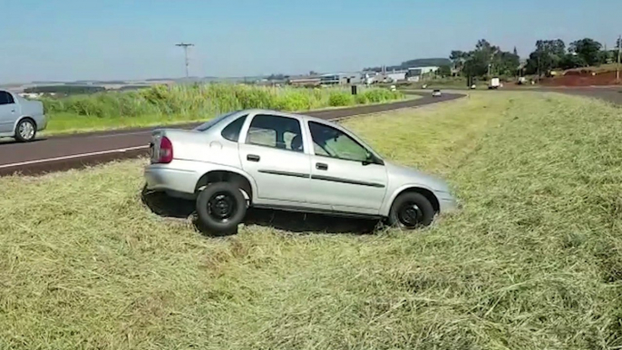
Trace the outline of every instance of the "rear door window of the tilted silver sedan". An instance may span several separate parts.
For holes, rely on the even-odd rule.
[[[300,122],[294,118],[258,114],[248,128],[248,144],[303,152]]]

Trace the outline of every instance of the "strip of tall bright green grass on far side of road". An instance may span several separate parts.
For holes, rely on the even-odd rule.
[[[327,107],[390,102],[401,92],[366,89],[270,88],[234,84],[155,86],[138,92],[102,92],[45,99],[50,116],[46,134],[205,121],[222,112],[245,108],[309,111]]]

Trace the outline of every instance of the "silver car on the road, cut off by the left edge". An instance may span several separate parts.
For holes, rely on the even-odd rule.
[[[43,102],[29,101],[16,93],[0,90],[0,137],[33,141],[37,131],[46,126]]]

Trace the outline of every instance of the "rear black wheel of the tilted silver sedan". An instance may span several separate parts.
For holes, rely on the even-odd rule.
[[[201,190],[197,197],[197,215],[209,233],[230,235],[247,214],[247,203],[237,186],[215,182]]]

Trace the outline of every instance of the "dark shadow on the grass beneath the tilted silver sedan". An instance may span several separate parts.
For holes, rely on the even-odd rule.
[[[206,236],[214,236],[203,228],[197,219],[193,200],[172,198],[163,192],[154,192],[144,188],[141,191],[141,200],[144,205],[160,217],[191,219],[195,228],[199,229],[200,232]],[[378,220],[335,218],[318,214],[249,208],[244,224],[283,229],[296,233],[321,232],[364,235],[375,232]]]

